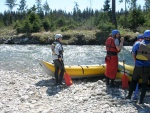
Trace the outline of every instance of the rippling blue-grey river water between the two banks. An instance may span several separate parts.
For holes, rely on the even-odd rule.
[[[125,46],[119,53],[119,61],[133,65],[132,46]],[[64,46],[64,63],[66,65],[104,64],[105,46]],[[43,73],[39,60],[52,62],[50,45],[0,45],[0,69],[28,74]]]

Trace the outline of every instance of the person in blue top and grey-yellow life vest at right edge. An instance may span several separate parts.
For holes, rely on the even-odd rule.
[[[129,93],[126,99],[131,99],[132,93],[136,88],[136,84],[142,77],[142,90],[139,104],[143,104],[146,95],[147,84],[150,76],[150,30],[146,30],[143,34],[144,39],[133,45],[132,56],[135,61],[132,81],[129,87]]]

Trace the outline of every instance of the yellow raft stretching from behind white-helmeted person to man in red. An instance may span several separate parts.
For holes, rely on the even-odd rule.
[[[43,70],[51,76],[54,76],[54,64],[40,61]],[[65,65],[66,72],[71,78],[95,77],[104,75],[105,64],[101,65]]]

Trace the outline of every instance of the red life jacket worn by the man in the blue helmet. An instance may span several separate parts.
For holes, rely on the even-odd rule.
[[[119,53],[120,51],[117,50],[116,48],[116,45],[115,45],[115,39],[113,37],[109,37],[107,40],[106,40],[106,51],[107,51],[107,54],[109,56],[111,55],[117,55],[117,53]]]

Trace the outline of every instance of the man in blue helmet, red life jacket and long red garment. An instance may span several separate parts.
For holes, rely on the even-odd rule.
[[[120,32],[118,30],[112,30],[112,34],[108,39],[106,40],[106,57],[105,57],[105,63],[106,63],[106,85],[110,85],[110,87],[114,87],[114,80],[116,78],[117,70],[118,70],[118,53],[121,51],[121,48],[123,47],[124,38],[120,38],[119,43],[119,37]],[[111,80],[110,84],[109,81]]]

